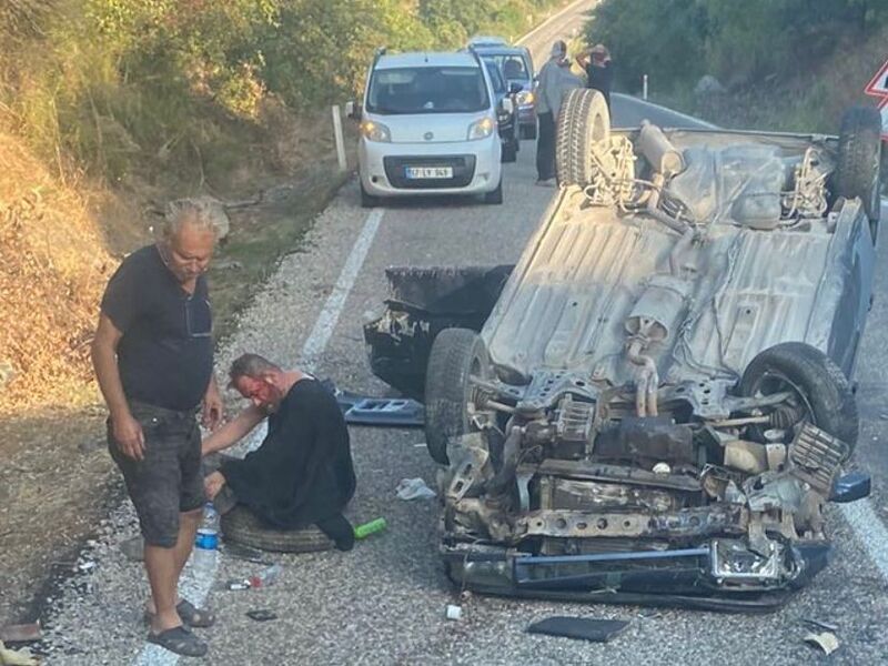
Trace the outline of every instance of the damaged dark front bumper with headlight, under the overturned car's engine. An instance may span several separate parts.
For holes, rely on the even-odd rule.
[[[442,554],[454,583],[483,594],[766,613],[827,565],[830,545],[785,543],[760,555],[719,538],[669,551],[534,556],[455,544]]]

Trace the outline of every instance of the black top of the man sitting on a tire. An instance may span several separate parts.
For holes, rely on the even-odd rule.
[[[296,382],[269,416],[262,445],[221,472],[238,501],[275,527],[337,515],[354,494],[355,476],[336,398],[316,380]]]

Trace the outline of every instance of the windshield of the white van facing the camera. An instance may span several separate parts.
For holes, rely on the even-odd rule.
[[[415,67],[375,70],[370,80],[371,113],[473,113],[491,108],[477,67]]]

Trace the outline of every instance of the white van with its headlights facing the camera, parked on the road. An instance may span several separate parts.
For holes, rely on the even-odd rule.
[[[475,53],[379,52],[363,107],[346,112],[361,121],[363,206],[422,194],[503,202],[497,102]]]

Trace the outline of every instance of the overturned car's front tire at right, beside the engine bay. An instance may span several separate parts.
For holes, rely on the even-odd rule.
[[[746,396],[791,390],[805,403],[810,422],[852,451],[860,423],[851,385],[841,369],[820,350],[804,342],[784,342],[759,353],[740,380]],[[768,426],[750,425],[748,436],[765,442]]]

